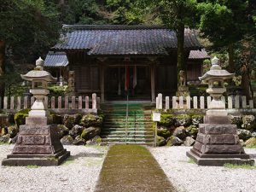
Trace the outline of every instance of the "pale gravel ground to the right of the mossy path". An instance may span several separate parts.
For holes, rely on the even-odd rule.
[[[149,148],[178,191],[255,192],[256,169],[230,169],[222,166],[197,166],[189,163],[188,147]],[[256,148],[246,148],[256,154]]]

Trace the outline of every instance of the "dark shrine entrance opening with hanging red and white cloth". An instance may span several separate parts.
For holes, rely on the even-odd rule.
[[[108,101],[150,101],[150,67],[122,66],[106,68],[105,94]]]

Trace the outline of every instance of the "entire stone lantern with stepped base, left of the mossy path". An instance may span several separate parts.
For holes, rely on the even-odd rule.
[[[2,161],[3,166],[58,166],[69,155],[63,148],[57,125],[52,125],[44,96],[49,94],[47,84],[56,79],[44,71],[44,60],[39,58],[36,67],[21,75],[32,81],[30,93],[36,98],[32,110],[26,117],[26,125],[20,125],[20,132],[12,153]]]

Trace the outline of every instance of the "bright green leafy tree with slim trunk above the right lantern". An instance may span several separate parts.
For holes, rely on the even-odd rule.
[[[251,9],[253,1],[244,0],[205,0],[199,1],[201,15],[199,28],[203,36],[215,47],[226,47],[229,53],[229,71],[235,70],[235,47],[247,33],[253,30]]]

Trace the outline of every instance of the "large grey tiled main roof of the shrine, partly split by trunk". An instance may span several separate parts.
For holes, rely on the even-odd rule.
[[[88,55],[166,55],[177,48],[176,33],[162,26],[63,26],[54,49],[87,49]],[[184,48],[199,49],[195,31],[186,29]]]

